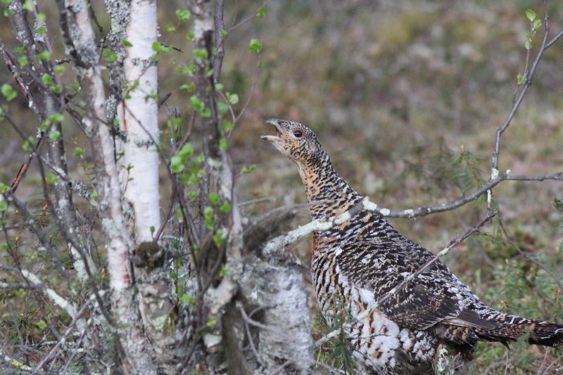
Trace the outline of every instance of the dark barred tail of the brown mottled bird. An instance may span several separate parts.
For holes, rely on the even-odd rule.
[[[558,348],[563,345],[563,325],[550,322],[499,315],[493,320],[495,327],[476,330],[477,336],[485,340],[500,341],[507,344],[519,337],[527,337],[528,342],[536,345]]]

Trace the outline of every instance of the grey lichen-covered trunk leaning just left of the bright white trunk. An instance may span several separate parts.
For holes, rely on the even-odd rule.
[[[108,246],[108,271],[113,313],[122,343],[122,360],[129,371],[156,373],[152,346],[144,334],[133,286],[129,254],[131,233],[122,211],[120,183],[114,159],[113,140],[106,125],[105,93],[94,30],[86,1],[58,0],[65,47],[75,62],[84,92],[84,128],[94,150],[96,190],[99,194],[101,227]]]

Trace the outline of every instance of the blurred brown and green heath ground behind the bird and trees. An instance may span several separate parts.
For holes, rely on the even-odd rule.
[[[58,16],[46,3],[40,1],[39,7],[48,15],[55,58],[61,58]],[[92,3],[108,32],[103,2]],[[186,39],[192,25],[175,21],[183,2],[160,1],[158,6],[160,40],[183,51],[160,60],[159,96],[172,93],[160,110],[164,124],[175,108],[184,115],[191,111],[191,93],[178,89],[189,77],[175,70],[191,58],[194,46]],[[313,129],[336,171],[380,206],[434,205],[474,190],[490,175],[495,131],[512,108],[517,74],[526,67],[526,8],[543,18],[542,1],[532,0],[227,1],[229,32],[221,82],[224,91],[240,98],[234,112],[242,114],[231,131],[230,150],[241,171],[236,189],[246,216],[253,220],[275,207],[305,202],[296,166],[260,140],[260,135],[272,133],[264,124],[270,117]],[[563,28],[560,1],[550,1],[549,13],[554,36]],[[0,31],[4,42],[15,46],[8,22],[1,23]],[[533,39],[529,63],[542,36],[543,27]],[[262,42],[260,54],[248,51],[251,39]],[[5,65],[0,66],[0,79],[13,84]],[[21,96],[11,103],[10,112],[27,135],[36,133],[36,120]],[[502,137],[500,171],[561,171],[562,122],[559,41],[543,56],[524,103]],[[65,125],[72,155],[85,138],[70,121]],[[201,142],[200,135],[196,129],[194,145]],[[166,136],[163,126],[164,140]],[[26,154],[15,131],[2,121],[2,182],[11,183]],[[88,181],[84,160],[71,157],[69,164],[75,178]],[[34,173],[28,173],[18,190],[31,205],[42,199]],[[169,195],[165,176],[163,171],[163,199]],[[495,188],[498,218],[482,235],[457,246],[445,263],[494,308],[562,322],[562,199],[561,183],[502,183]],[[288,230],[310,221],[306,207],[300,212]],[[484,212],[480,199],[448,213],[391,221],[407,237],[437,252]],[[308,238],[291,246],[305,264],[310,262],[310,242]],[[509,355],[500,345],[481,344],[476,371],[504,371],[510,362],[515,372],[526,373],[537,371],[544,355],[548,361],[557,358],[555,350],[546,354],[544,348],[515,346]],[[552,367],[559,369],[562,361]]]

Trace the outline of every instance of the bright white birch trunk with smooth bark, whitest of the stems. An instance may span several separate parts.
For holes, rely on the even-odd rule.
[[[125,80],[130,98],[118,107],[122,131],[127,133],[124,145],[127,179],[125,197],[132,203],[135,213],[135,239],[137,243],[152,240],[151,227],[160,226],[160,195],[158,193],[158,77],[156,63],[151,62],[153,43],[158,38],[155,0],[133,0],[131,3],[127,48],[123,61]]]

